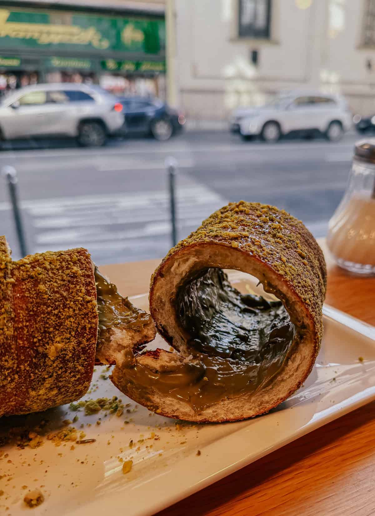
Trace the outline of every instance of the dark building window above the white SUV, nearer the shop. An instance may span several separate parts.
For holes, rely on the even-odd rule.
[[[271,0],[238,0],[238,36],[270,38]]]

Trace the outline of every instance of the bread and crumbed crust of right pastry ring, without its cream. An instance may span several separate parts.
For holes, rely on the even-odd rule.
[[[181,329],[174,329],[177,321],[173,306],[176,290],[186,278],[181,277],[178,284],[176,276],[179,271],[186,275],[189,270],[210,266],[253,273],[262,280],[266,290],[268,283],[269,291],[274,290],[286,305],[292,321],[297,326],[300,321],[306,330],[298,352],[293,354],[280,379],[272,382],[276,384],[275,389],[272,391],[270,385],[264,390],[265,398],[269,396],[268,404],[255,395],[244,399],[242,412],[238,410],[232,414],[231,407],[241,408],[241,404],[230,404],[228,400],[228,403],[220,402],[221,411],[213,410],[208,417],[202,413],[194,415],[194,419],[189,415],[189,418],[202,422],[232,421],[267,412],[299,388],[311,372],[319,352],[327,281],[323,254],[301,221],[274,206],[240,201],[219,209],[171,249],[151,277],[151,315],[159,333],[176,349],[183,340]],[[180,351],[186,354],[183,345]],[[131,383],[126,385],[126,391],[142,403],[139,391],[133,389]],[[145,397],[143,404],[149,408],[157,406],[159,401],[160,413],[181,417],[179,408],[173,404],[169,406],[172,411],[164,410],[165,405],[160,404],[155,391],[150,390],[148,396],[142,394]],[[249,407],[249,403],[253,407]],[[184,410],[189,414],[188,408]]]

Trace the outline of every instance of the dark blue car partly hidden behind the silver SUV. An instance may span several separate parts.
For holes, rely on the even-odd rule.
[[[118,97],[123,105],[126,133],[152,135],[160,141],[168,140],[181,130],[184,115],[159,99],[142,96]]]

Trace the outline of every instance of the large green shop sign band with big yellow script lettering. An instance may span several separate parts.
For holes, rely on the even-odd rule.
[[[0,48],[164,55],[165,21],[53,9],[0,8]],[[73,54],[74,55],[74,54]],[[103,54],[102,54],[103,55]]]

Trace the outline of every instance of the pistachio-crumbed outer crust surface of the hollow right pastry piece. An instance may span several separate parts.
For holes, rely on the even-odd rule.
[[[165,262],[187,246],[204,243],[234,247],[274,270],[308,307],[320,343],[321,307],[327,287],[326,262],[317,241],[302,221],[268,204],[229,203],[203,220],[196,231],[168,252],[151,277],[150,300],[155,278]]]

